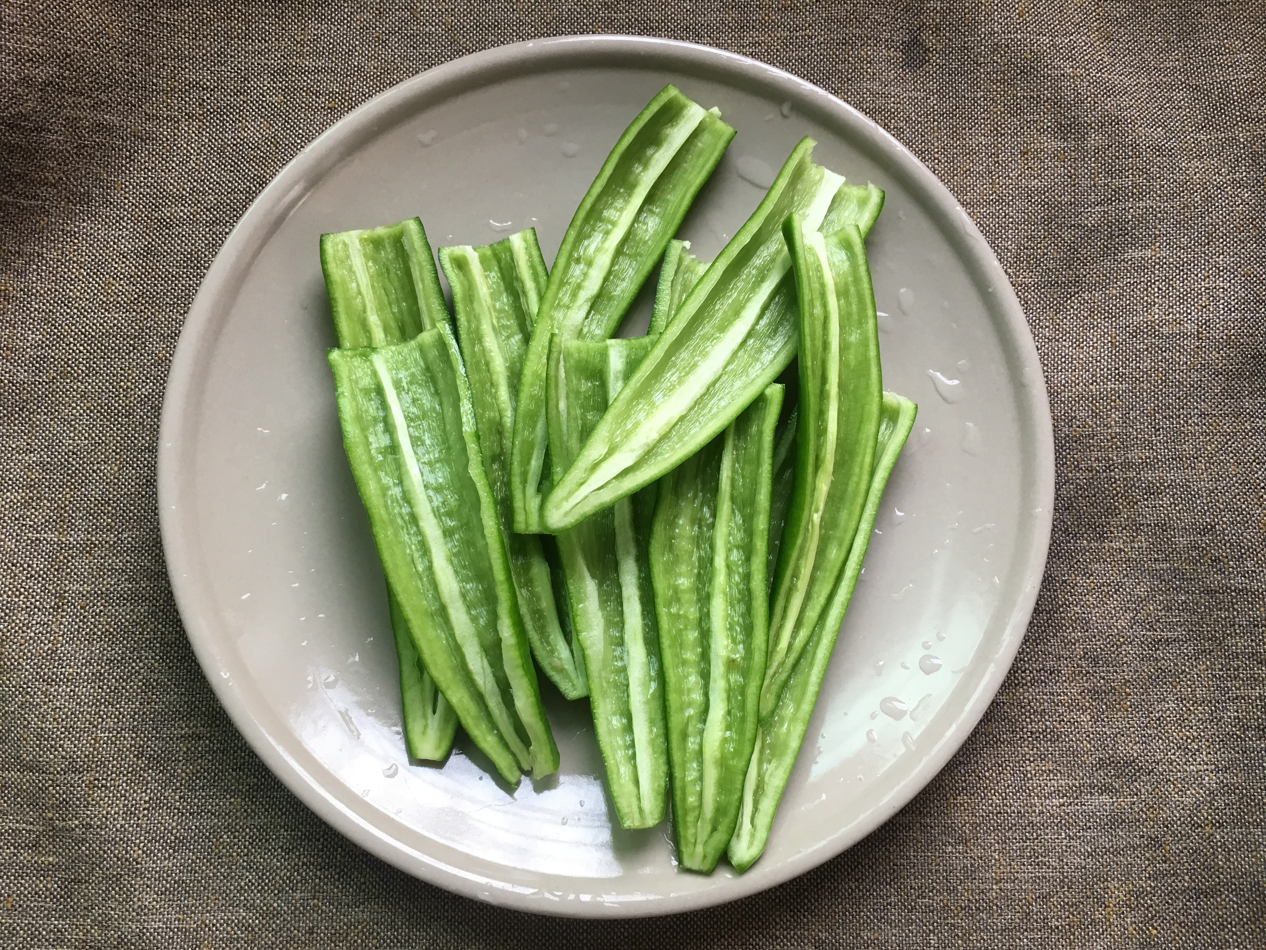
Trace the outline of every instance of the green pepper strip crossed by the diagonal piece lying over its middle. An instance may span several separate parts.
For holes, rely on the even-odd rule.
[[[563,341],[549,372],[549,455],[563,467],[651,346],[649,339]],[[560,535],[573,636],[585,652],[594,731],[625,828],[663,820],[668,754],[649,565],[646,498],[622,499]]]

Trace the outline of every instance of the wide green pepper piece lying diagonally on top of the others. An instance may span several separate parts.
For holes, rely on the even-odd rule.
[[[828,233],[865,233],[884,193],[844,185],[813,162],[805,138],[752,217],[708,266],[638,371],[542,507],[544,528],[563,531],[671,471],[747,408],[795,356],[798,308],[789,214]]]

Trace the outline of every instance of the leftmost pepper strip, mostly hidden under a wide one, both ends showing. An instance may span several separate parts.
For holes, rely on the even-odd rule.
[[[322,234],[320,262],[334,329],[344,348],[403,343],[448,319],[430,243],[418,218]],[[417,659],[390,590],[387,600],[400,665],[405,746],[415,759],[443,759],[453,745],[456,714]]]

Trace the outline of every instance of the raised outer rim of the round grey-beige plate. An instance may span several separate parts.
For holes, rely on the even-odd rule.
[[[643,67],[703,73],[736,86],[771,87],[794,94],[812,104],[828,124],[844,127],[858,146],[876,158],[882,157],[885,170],[904,179],[920,204],[944,225],[956,225],[958,239],[955,250],[976,285],[986,284],[993,294],[995,324],[1001,315],[1000,343],[1010,350],[1024,374],[1027,400],[1017,405],[1022,434],[1032,441],[1034,457],[1033,495],[1041,507],[1033,513],[1028,550],[1017,557],[1022,565],[1023,589],[1013,604],[1000,646],[993,656],[990,671],[967,700],[951,727],[919,763],[910,776],[875,808],[844,825],[819,846],[806,849],[780,864],[760,863],[746,874],[729,878],[728,885],[694,893],[667,893],[651,899],[604,903],[600,901],[541,901],[518,885],[492,887],[484,878],[460,868],[446,865],[409,847],[376,828],[354,811],[341,804],[337,797],[319,784],[256,719],[242,693],[232,680],[216,675],[222,670],[205,618],[215,613],[210,600],[201,595],[196,579],[184,567],[192,566],[186,528],[180,517],[182,497],[181,457],[194,443],[196,423],[186,424],[191,399],[200,394],[199,356],[215,343],[223,327],[216,326],[218,304],[225,295],[235,296],[228,286],[235,267],[242,266],[243,248],[261,246],[311,191],[315,182],[346,160],[353,151],[392,128],[403,115],[427,106],[427,100],[442,101],[463,91],[487,85],[499,77],[511,79],[553,68],[575,68],[591,61],[600,66]],[[1055,440],[1050,399],[1042,374],[1037,346],[1019,299],[1012,288],[993,248],[975,222],[957,203],[948,187],[905,146],[856,108],[825,90],[784,70],[737,53],[684,41],[634,35],[571,35],[530,39],[494,47],[462,56],[425,70],[391,89],[380,92],[333,123],[311,143],[301,148],[251,203],[246,213],[225,237],[208,267],[206,275],[181,327],[163,391],[157,448],[157,503],[160,532],[168,579],[186,637],[197,657],[216,699],[234,727],[299,801],[343,836],[375,856],[408,874],[452,893],[511,907],[520,911],[565,917],[646,917],[700,909],[728,903],[785,883],[842,854],[870,835],[908,804],[944,768],[975,730],[993,702],[1023,641],[1044,573],[1050,550],[1055,499]],[[1023,497],[1023,495],[1022,495]],[[1023,547],[1023,535],[1019,547]]]

